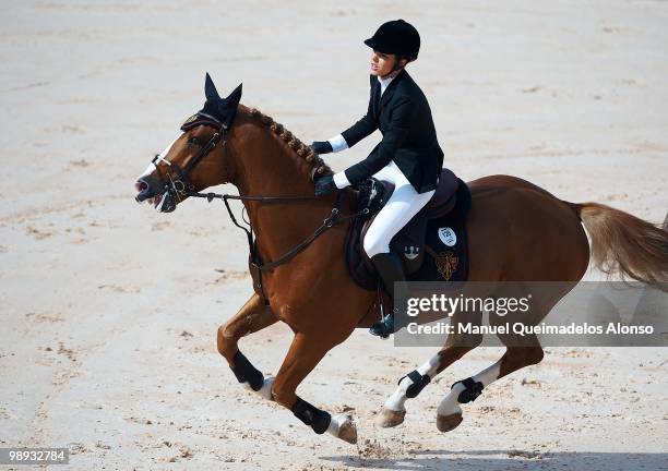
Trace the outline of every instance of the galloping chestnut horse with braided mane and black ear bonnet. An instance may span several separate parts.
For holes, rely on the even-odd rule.
[[[313,180],[332,172],[320,156],[271,117],[240,104],[241,85],[223,98],[206,74],[204,88],[202,110],[136,179],[135,200],[152,201],[159,212],[170,213],[192,196],[210,201],[220,196],[201,193],[210,186],[230,183],[238,189],[238,196],[222,197],[226,205],[229,198],[240,200],[248,213],[253,294],[218,328],[217,350],[243,386],[289,409],[317,434],[326,432],[355,444],[353,416],[333,416],[297,396],[296,389],[327,351],[377,319],[369,309],[375,293],[353,281],[343,256],[350,219],[341,215],[354,214],[357,192],[348,188],[315,197]],[[470,281],[574,285],[591,259],[604,273],[654,287],[668,279],[668,232],[658,226],[603,204],[560,200],[511,176],[482,177],[468,186]],[[319,230],[313,232],[314,228]],[[533,321],[545,317],[566,292],[547,299]],[[291,328],[294,338],[275,377],[265,378],[238,345],[242,337],[278,321]],[[534,335],[498,337],[505,352],[486,370],[453,385],[437,409],[439,431],[455,428],[463,418],[461,404],[474,400],[492,382],[544,358]],[[449,335],[438,353],[399,381],[382,406],[378,423],[401,424],[406,400],[480,342],[480,335]]]

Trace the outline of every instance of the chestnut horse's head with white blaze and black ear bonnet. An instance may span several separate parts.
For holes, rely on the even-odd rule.
[[[135,200],[152,201],[158,212],[171,213],[189,194],[229,181],[224,158],[228,132],[241,99],[241,84],[222,98],[206,74],[206,101],[181,125],[181,134],[136,179]]]

